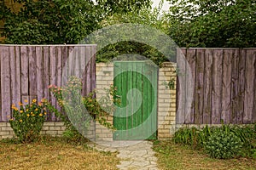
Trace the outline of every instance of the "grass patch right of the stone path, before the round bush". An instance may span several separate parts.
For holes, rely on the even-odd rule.
[[[212,159],[201,150],[191,150],[172,141],[155,141],[154,151],[159,169],[256,169],[256,159]]]

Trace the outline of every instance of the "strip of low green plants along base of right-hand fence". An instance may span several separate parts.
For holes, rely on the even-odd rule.
[[[236,139],[237,137],[237,139]],[[241,141],[241,150],[237,151]],[[177,144],[189,145],[192,149],[211,150],[211,156],[219,154],[218,158],[228,158],[224,156],[227,152],[222,152],[220,148],[232,146],[230,151],[236,152],[233,156],[247,156],[256,158],[256,124],[244,127],[222,125],[222,127],[182,127],[174,134],[173,141]],[[236,145],[237,144],[237,145]],[[212,147],[212,148],[209,148]],[[223,148],[222,148],[223,149]],[[225,148],[227,149],[227,148]],[[221,153],[220,153],[221,152]]]

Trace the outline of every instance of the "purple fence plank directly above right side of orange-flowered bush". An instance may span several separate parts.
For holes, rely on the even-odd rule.
[[[44,65],[43,65],[43,48],[36,47],[36,62],[37,62],[37,96],[38,100],[44,98]]]

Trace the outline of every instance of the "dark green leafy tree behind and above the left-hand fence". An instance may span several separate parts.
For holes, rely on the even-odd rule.
[[[100,21],[110,14],[139,10],[143,0],[15,0],[23,4],[13,12],[1,0],[0,20],[5,21],[5,43],[53,44],[78,43],[90,32],[100,28]]]

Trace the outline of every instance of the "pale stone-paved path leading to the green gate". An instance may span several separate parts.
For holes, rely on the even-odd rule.
[[[117,166],[121,170],[157,170],[157,158],[149,141],[114,141],[111,143],[96,144],[96,150],[115,152],[120,158]]]

